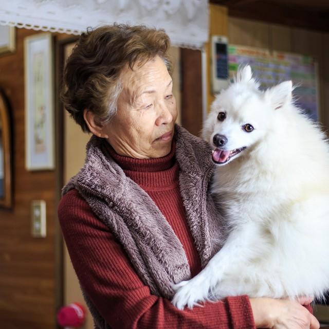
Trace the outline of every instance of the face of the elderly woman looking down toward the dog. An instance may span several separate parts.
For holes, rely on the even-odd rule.
[[[121,73],[118,111],[104,127],[107,141],[124,156],[159,158],[171,151],[177,118],[173,83],[160,57]]]

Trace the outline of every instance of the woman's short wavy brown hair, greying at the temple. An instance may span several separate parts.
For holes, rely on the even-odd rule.
[[[131,69],[159,56],[172,74],[168,56],[169,36],[162,29],[144,25],[114,24],[82,33],[67,59],[61,100],[70,116],[89,132],[84,109],[92,111],[101,125],[117,112],[122,90],[119,76],[126,64]]]

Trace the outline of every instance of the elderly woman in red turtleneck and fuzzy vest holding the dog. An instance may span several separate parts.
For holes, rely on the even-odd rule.
[[[211,150],[175,125],[168,48],[162,30],[104,26],[83,33],[66,64],[64,105],[93,136],[59,218],[96,327],[316,328],[287,300],[171,304],[172,284],[195,276],[223,237]]]

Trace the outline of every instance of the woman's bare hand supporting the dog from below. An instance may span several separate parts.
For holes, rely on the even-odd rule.
[[[272,329],[318,329],[319,321],[302,305],[309,299],[299,301],[289,299],[250,298],[257,328]]]

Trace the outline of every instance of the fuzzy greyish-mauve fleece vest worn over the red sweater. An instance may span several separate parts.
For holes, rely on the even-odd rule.
[[[223,241],[222,223],[209,191],[213,174],[211,150],[205,141],[178,125],[174,138],[180,193],[196,249],[205,266]],[[151,293],[171,299],[171,284],[191,277],[185,251],[151,197],[125,176],[111,157],[104,155],[104,142],[96,136],[90,138],[85,164],[62,194],[77,189],[120,241]],[[96,309],[85,298],[99,322],[99,314],[95,314]]]

